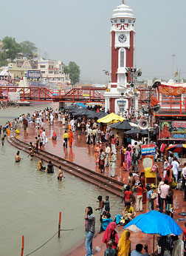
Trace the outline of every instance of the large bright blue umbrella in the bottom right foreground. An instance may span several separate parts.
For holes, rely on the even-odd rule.
[[[124,229],[129,229],[134,232],[159,235],[180,235],[182,229],[173,218],[164,215],[157,211],[147,212],[138,215],[134,220],[131,220]]]

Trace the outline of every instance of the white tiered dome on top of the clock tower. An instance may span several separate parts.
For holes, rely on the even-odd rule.
[[[113,13],[113,16],[111,17],[111,19],[114,19],[114,18],[136,19],[134,17],[133,10],[131,10],[130,7],[126,4],[121,4],[121,5],[117,6],[117,9],[114,10],[114,13]]]

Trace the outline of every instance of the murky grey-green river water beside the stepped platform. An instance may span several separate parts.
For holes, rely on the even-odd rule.
[[[0,110],[0,124],[44,107],[49,107],[49,104]],[[83,215],[86,206],[95,209],[97,195],[105,197],[107,192],[67,173],[60,182],[57,180],[57,169],[54,175],[38,172],[38,160],[31,162],[24,152],[21,152],[24,160],[15,164],[16,151],[7,141],[4,147],[0,145],[0,256],[20,255],[22,235],[25,240],[24,256],[37,249],[58,231],[59,212],[62,212],[61,228],[75,230],[62,232],[61,238],[55,235],[32,255],[64,255],[84,239]],[[112,218],[123,209],[120,201],[117,196],[110,195],[110,206],[114,205],[111,207]],[[98,212],[94,211],[94,214],[98,230],[100,216]]]

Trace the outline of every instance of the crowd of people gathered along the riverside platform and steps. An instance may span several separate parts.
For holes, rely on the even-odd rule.
[[[1,137],[1,144],[4,145],[6,135],[9,135],[10,130],[18,134],[19,129],[26,130],[28,125],[38,131],[35,136],[35,142],[30,142],[30,157],[31,161],[35,154],[38,154],[39,149],[44,150],[48,138],[45,131],[45,124],[49,126],[58,121],[58,124],[64,127],[63,132],[63,146],[66,149],[68,146],[73,146],[74,133],[80,132],[86,136],[86,144],[93,145],[95,164],[100,170],[100,173],[105,174],[106,168],[109,169],[109,175],[114,178],[116,176],[117,162],[120,161],[120,166],[125,172],[127,178],[123,179],[123,212],[111,218],[111,207],[109,205],[109,197],[103,201],[100,195],[97,199],[99,205],[96,211],[100,212],[100,232],[103,234],[103,243],[106,243],[105,255],[142,255],[142,249],[145,250],[145,255],[148,255],[148,246],[137,244],[136,249],[131,252],[130,232],[123,231],[121,238],[118,238],[116,226],[125,226],[130,220],[135,218],[138,212],[143,212],[143,205],[148,203],[148,211],[157,209],[159,212],[165,212],[173,218],[175,212],[173,191],[180,189],[185,191],[184,201],[186,201],[186,164],[181,168],[179,155],[168,152],[168,146],[162,142],[156,145],[153,141],[151,144],[156,146],[156,155],[154,161],[158,162],[154,166],[157,175],[157,189],[156,186],[147,185],[145,182],[145,172],[140,172],[139,165],[142,158],[141,145],[148,144],[148,141],[140,141],[137,139],[132,144],[131,137],[125,138],[124,144],[119,146],[120,136],[118,132],[107,125],[98,124],[92,118],[88,119],[82,116],[75,118],[70,112],[66,110],[55,110],[46,108],[43,111],[33,111],[32,114],[20,115],[15,118],[12,123],[7,121],[4,127],[0,127],[3,132]],[[55,132],[52,133],[52,140],[57,140],[58,136]],[[120,152],[120,154],[118,154]],[[118,159],[120,157],[120,159]],[[15,155],[15,162],[22,160],[20,152]],[[47,166],[44,166],[44,161],[41,159],[38,163],[38,170],[41,172],[54,173],[54,165],[49,161]],[[139,174],[140,173],[140,174]],[[58,168],[58,180],[62,181],[65,178],[62,166]],[[182,182],[181,182],[182,181]],[[95,217],[91,206],[86,208],[86,256],[93,255],[92,239],[95,232]],[[186,233],[186,232],[185,232]],[[177,256],[175,253],[177,249],[175,245],[179,238],[173,238],[173,248],[164,249],[170,255]],[[178,243],[178,246],[183,246]],[[158,247],[157,254],[161,255],[161,246]],[[174,252],[175,251],[175,252]],[[182,250],[183,251],[183,250]],[[160,254],[158,254],[160,252]]]

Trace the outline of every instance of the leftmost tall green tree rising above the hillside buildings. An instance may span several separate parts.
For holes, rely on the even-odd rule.
[[[14,60],[16,55],[20,52],[21,46],[15,41],[15,38],[5,36],[2,39],[4,52],[7,54],[7,58],[11,61]]]

